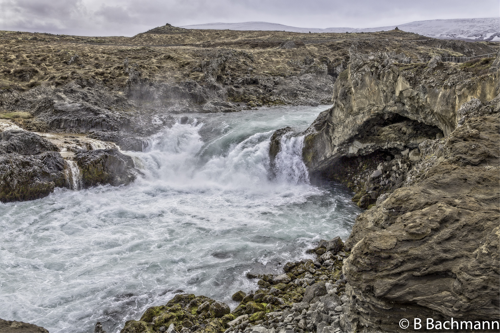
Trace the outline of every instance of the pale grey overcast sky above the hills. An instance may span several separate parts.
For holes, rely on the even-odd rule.
[[[265,21],[298,27],[388,26],[437,18],[494,17],[498,0],[0,0],[0,29],[133,36],[175,26]]]

